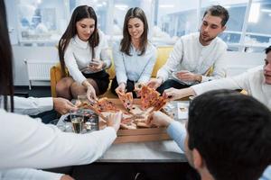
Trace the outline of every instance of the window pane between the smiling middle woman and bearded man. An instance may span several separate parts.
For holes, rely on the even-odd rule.
[[[198,0],[156,1],[153,40],[174,44],[178,37],[198,30]]]

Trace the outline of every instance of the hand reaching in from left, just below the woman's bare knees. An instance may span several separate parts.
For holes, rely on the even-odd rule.
[[[53,98],[52,102],[53,102],[53,109],[57,112],[60,112],[61,114],[78,110],[78,108],[73,103],[70,103],[69,100],[61,98],[61,97]]]

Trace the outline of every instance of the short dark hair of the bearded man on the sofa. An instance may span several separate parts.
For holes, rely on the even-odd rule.
[[[226,25],[226,23],[229,20],[229,12],[226,8],[224,8],[221,5],[212,5],[210,6],[203,15],[203,18],[205,17],[206,14],[210,14],[212,16],[219,16],[221,20],[221,25],[222,27]]]

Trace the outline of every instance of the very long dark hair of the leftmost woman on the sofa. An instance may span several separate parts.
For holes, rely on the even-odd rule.
[[[75,8],[73,11],[70,23],[64,32],[64,34],[61,37],[61,40],[59,41],[59,56],[61,61],[61,69],[62,69],[62,76],[67,76],[65,73],[65,61],[64,61],[64,54],[65,50],[67,49],[70,39],[74,37],[77,34],[76,30],[76,23],[84,18],[91,18],[95,21],[95,30],[91,34],[89,38],[89,46],[92,50],[92,57],[95,57],[94,54],[94,48],[98,46],[99,37],[98,37],[98,29],[97,29],[97,15],[95,14],[95,11],[92,7],[88,5],[80,5]]]

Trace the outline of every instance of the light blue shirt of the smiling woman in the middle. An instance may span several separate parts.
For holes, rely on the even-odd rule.
[[[131,56],[120,51],[120,42],[113,45],[113,58],[117,83],[126,83],[127,79],[138,83],[147,82],[153,72],[156,61],[156,49],[154,45],[148,42],[145,54],[139,56],[140,52],[136,51],[131,45]]]

